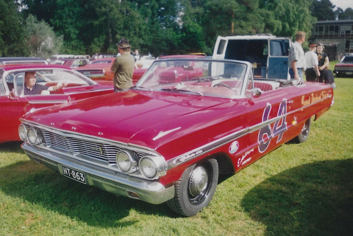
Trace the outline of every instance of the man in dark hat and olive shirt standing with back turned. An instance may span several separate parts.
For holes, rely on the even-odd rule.
[[[114,72],[114,92],[121,92],[132,87],[135,59],[130,53],[131,46],[127,39],[120,39],[116,46],[121,56],[115,58],[110,69]]]

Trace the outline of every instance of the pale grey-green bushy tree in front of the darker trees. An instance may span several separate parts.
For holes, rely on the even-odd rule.
[[[47,58],[60,52],[63,37],[56,36],[49,24],[43,20],[38,21],[34,16],[29,15],[24,31],[30,56]]]

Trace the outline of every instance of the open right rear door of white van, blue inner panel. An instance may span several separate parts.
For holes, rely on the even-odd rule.
[[[267,76],[269,79],[289,79],[288,53],[291,38],[273,38],[268,40]]]

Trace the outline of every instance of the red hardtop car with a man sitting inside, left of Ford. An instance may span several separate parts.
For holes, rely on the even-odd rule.
[[[24,73],[36,71],[37,84],[53,86],[66,82],[67,86],[53,94],[28,95],[23,92]],[[34,109],[67,103],[78,99],[113,92],[113,83],[98,84],[80,73],[61,65],[4,65],[0,67],[0,143],[20,140],[18,118]],[[48,91],[49,93],[49,91]]]

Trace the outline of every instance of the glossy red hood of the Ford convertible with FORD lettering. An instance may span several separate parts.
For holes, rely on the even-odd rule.
[[[129,143],[135,134],[152,126],[154,132],[158,134],[160,132],[158,123],[165,124],[176,117],[207,110],[231,100],[170,92],[130,90],[56,105],[23,118],[56,129]],[[187,123],[187,120],[183,122]],[[180,122],[170,123],[170,127],[178,128],[180,125]],[[163,129],[166,131],[166,128],[163,127]],[[139,145],[145,143],[139,141]]]

